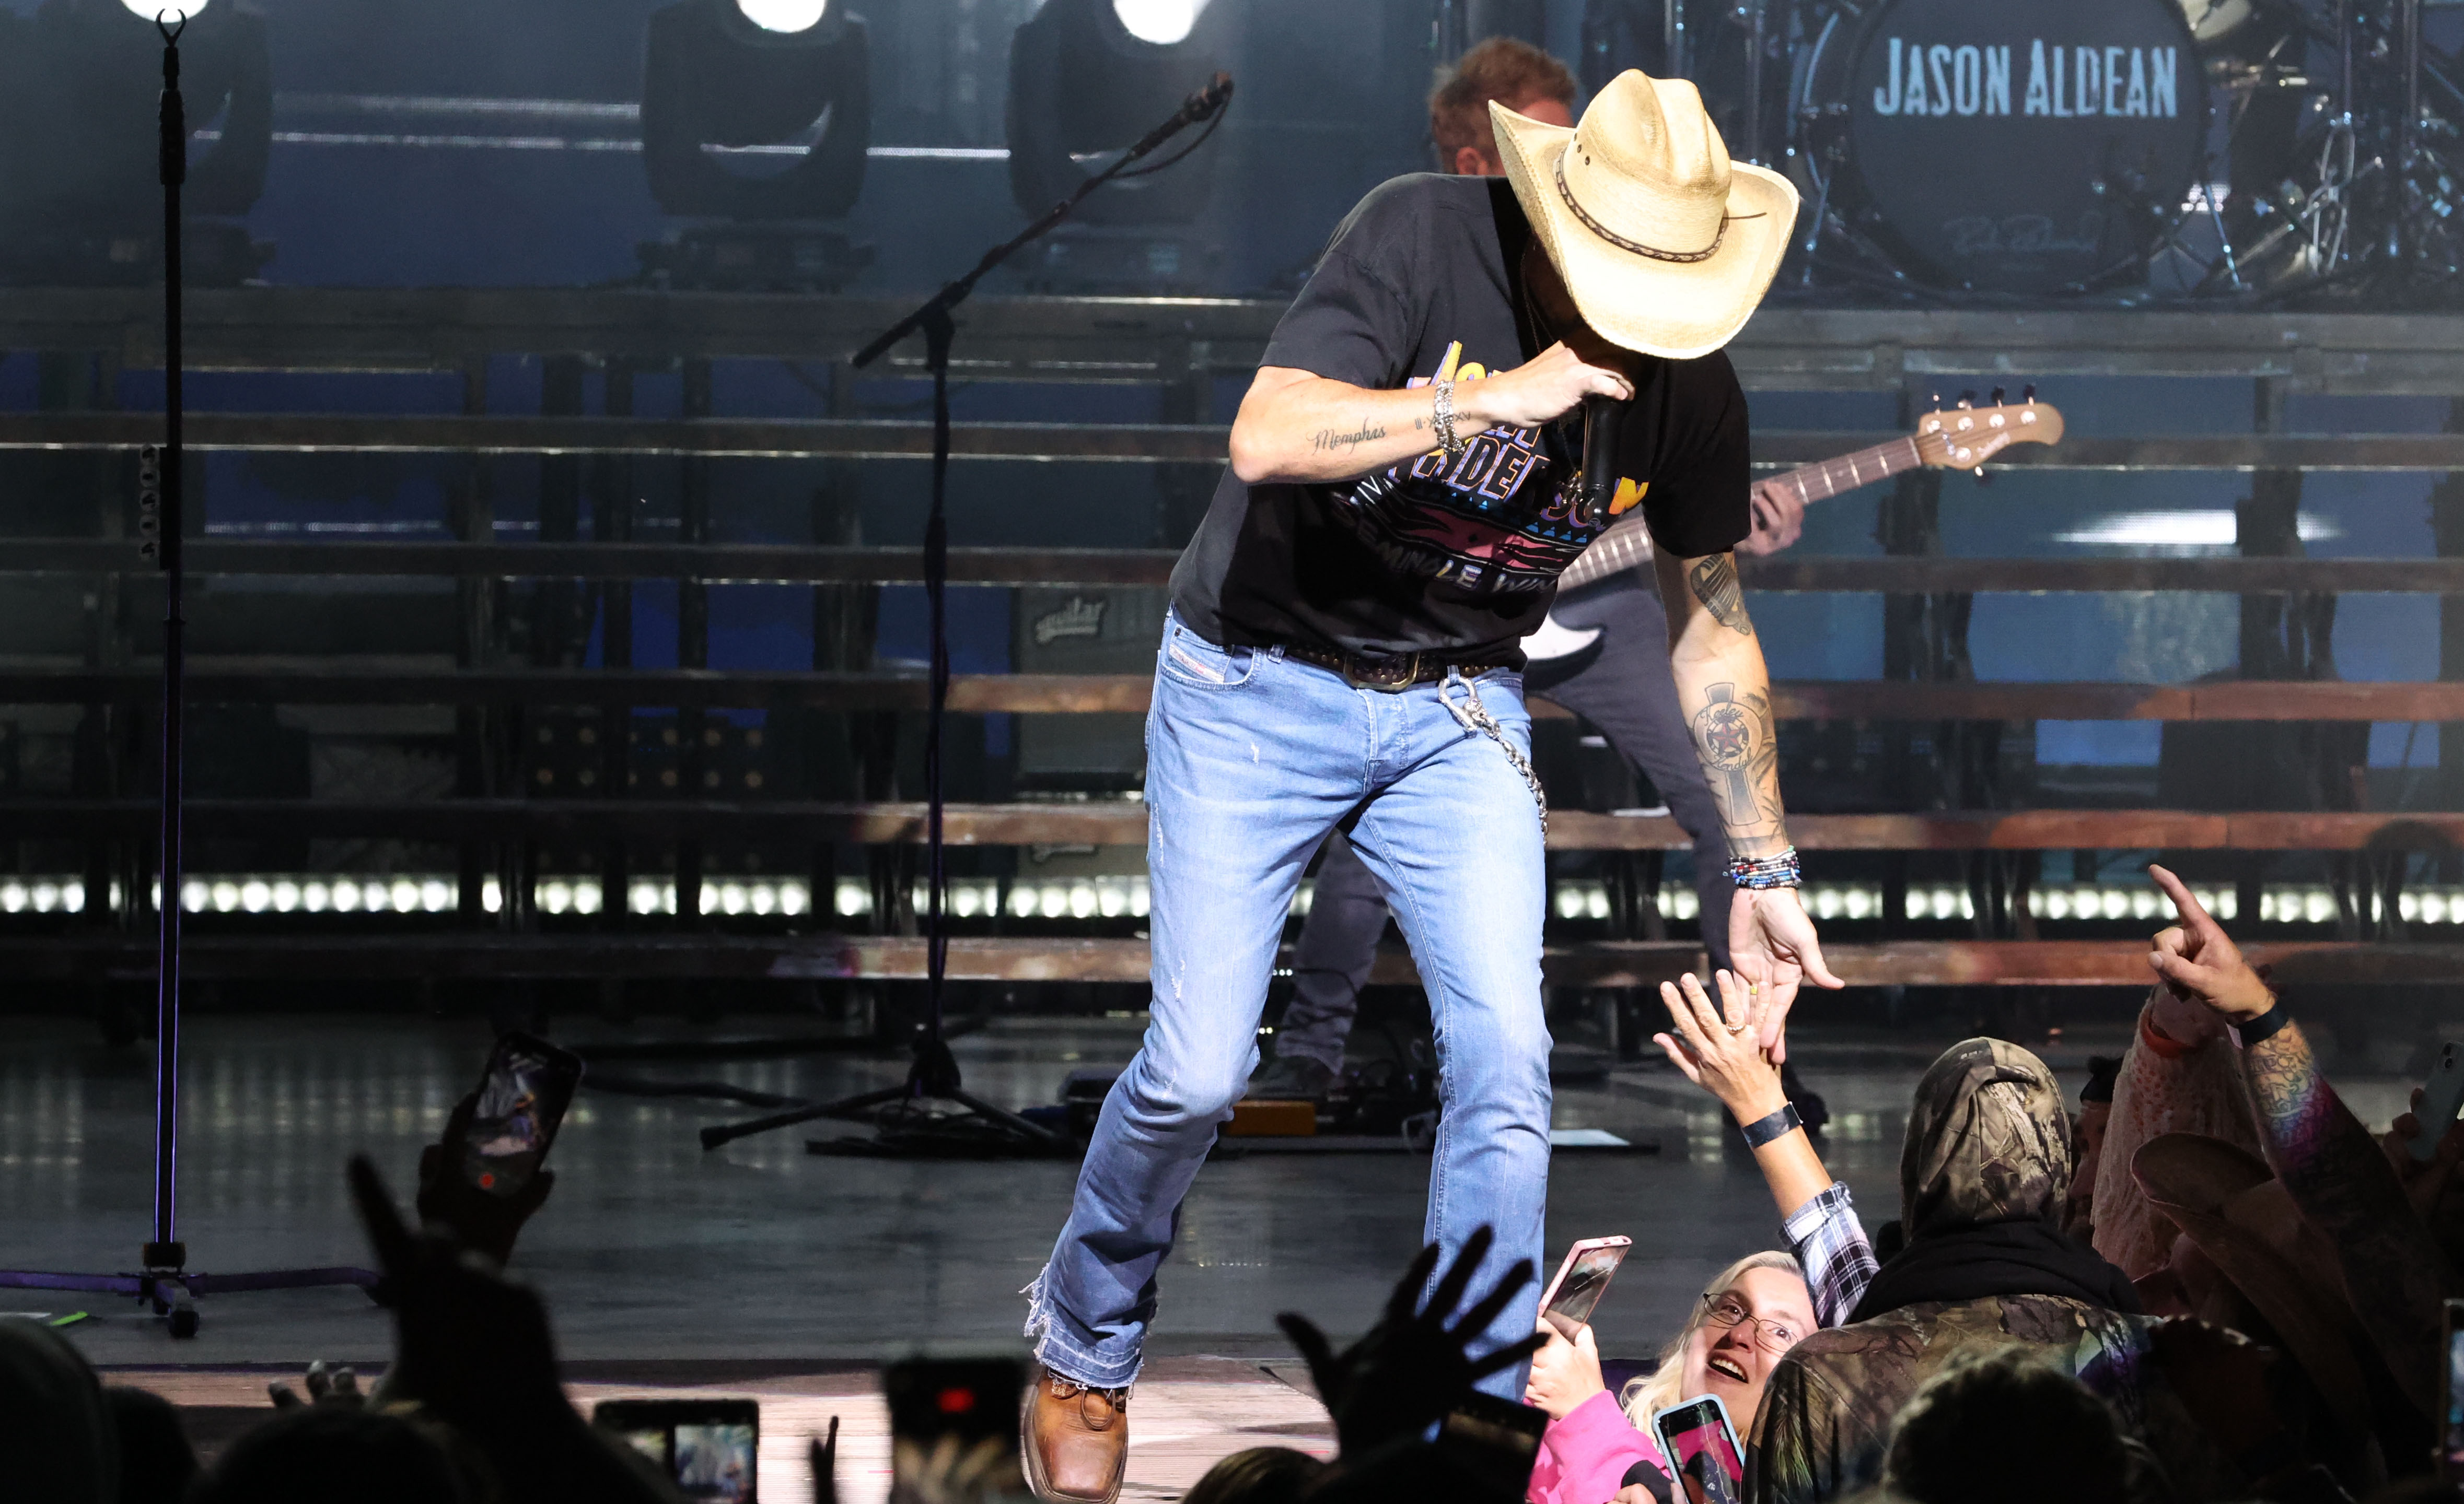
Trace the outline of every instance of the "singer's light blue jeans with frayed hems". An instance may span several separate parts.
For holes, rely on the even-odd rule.
[[[1069,1223],[1027,1290],[1035,1356],[1062,1378],[1119,1388],[1138,1376],[1180,1199],[1257,1068],[1257,1022],[1301,869],[1355,810],[1353,849],[1395,906],[1437,1024],[1444,1115],[1424,1238],[1451,1263],[1473,1228],[1496,1228],[1473,1295],[1518,1258],[1540,1265],[1550,1125],[1540,817],[1503,748],[1459,719],[1473,694],[1530,756],[1520,674],[1385,694],[1274,647],[1215,647],[1165,620],[1146,716],[1146,1044],[1104,1098]],[[1395,1268],[1409,1255],[1395,1248]],[[1508,1302],[1473,1354],[1528,1337],[1538,1297],[1530,1285]],[[1523,1366],[1483,1388],[1520,1398]]]

